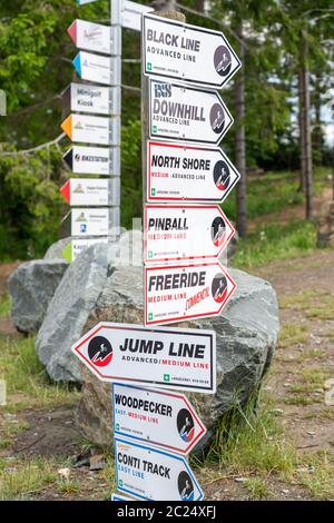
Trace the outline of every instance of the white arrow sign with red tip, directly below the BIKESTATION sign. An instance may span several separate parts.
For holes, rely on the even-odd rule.
[[[109,205],[109,180],[94,178],[71,178],[61,187],[60,193],[72,206]]]

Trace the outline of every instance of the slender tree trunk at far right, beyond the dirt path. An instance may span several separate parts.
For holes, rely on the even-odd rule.
[[[304,112],[304,146],[305,146],[305,198],[306,198],[306,219],[313,217],[313,166],[312,166],[312,141],[311,141],[311,100],[310,100],[310,70],[308,70],[308,45],[307,39],[302,42],[302,75],[303,75],[303,112]]]

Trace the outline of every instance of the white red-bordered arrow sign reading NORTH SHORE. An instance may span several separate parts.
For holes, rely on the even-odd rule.
[[[240,175],[220,149],[148,141],[148,201],[220,203]]]

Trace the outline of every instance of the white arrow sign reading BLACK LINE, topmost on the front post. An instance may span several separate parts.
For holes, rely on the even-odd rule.
[[[145,75],[222,88],[242,67],[223,32],[144,16]]]

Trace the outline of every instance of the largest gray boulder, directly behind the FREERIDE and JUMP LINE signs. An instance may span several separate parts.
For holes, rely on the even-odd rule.
[[[179,323],[187,328],[214,329],[217,336],[217,392],[189,394],[210,438],[223,414],[244,405],[265,375],[277,341],[279,323],[276,294],[271,284],[237,269],[228,272],[237,290],[220,316]],[[84,332],[98,322],[143,324],[143,269],[118,267],[109,272]],[[98,444],[110,444],[110,385],[89,371],[82,373],[84,395],[77,413],[82,433]],[[97,414],[95,414],[97,413]]]

